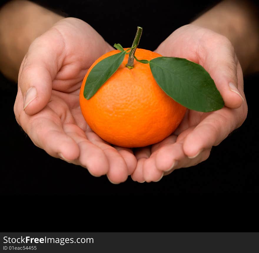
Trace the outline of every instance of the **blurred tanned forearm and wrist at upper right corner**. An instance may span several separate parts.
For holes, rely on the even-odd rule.
[[[243,72],[259,70],[259,19],[246,1],[222,1],[192,24],[211,29],[233,44]]]

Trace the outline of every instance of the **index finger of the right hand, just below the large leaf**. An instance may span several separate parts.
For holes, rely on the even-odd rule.
[[[240,119],[237,120],[236,116],[240,115],[238,110],[241,109],[225,107],[209,113],[186,137],[183,144],[184,153],[188,157],[196,157],[203,149],[218,145],[240,124],[241,118],[239,116]]]

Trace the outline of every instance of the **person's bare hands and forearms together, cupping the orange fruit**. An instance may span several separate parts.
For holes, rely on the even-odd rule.
[[[63,18],[28,1],[9,2],[0,10],[0,33],[6,34],[5,41],[0,41],[5,57],[0,69],[18,80],[17,122],[49,155],[81,165],[93,176],[107,175],[112,183],[124,182],[128,175],[138,182],[159,181],[174,169],[206,160],[212,146],[244,122],[243,72],[259,69],[258,20],[253,8],[245,6],[242,1],[223,1],[192,24],[177,29],[156,49],[164,56],[202,65],[214,79],[225,107],[212,113],[187,110],[175,133],[133,153],[99,138],[89,129],[79,107],[79,89],[87,69],[113,48],[80,19]],[[235,11],[230,11],[233,8]],[[21,23],[19,15],[27,17],[32,9],[35,16],[23,18]],[[225,24],[219,23],[219,18]],[[7,31],[1,20],[8,19]],[[233,20],[239,22],[237,27],[246,29],[231,29]],[[12,32],[19,41],[12,40]]]

